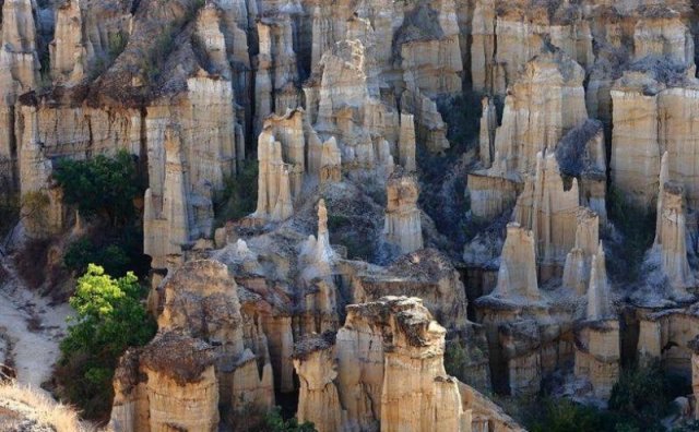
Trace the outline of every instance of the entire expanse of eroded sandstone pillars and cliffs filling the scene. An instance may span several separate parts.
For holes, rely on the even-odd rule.
[[[520,430],[470,385],[604,398],[636,328],[687,374],[696,4],[165,3],[0,20],[0,254],[48,242],[72,277],[103,220],[74,216],[64,159],[126,151],[146,183],[128,228],[159,331],[120,361],[116,430],[235,429],[297,391],[321,431]],[[653,208],[641,260],[619,213]]]

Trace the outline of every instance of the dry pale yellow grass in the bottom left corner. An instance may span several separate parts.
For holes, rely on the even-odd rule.
[[[81,423],[78,412],[71,407],[52,400],[40,391],[22,386],[16,382],[0,384],[0,400],[2,404],[16,403],[21,409],[19,412],[21,416],[35,420],[39,424],[51,427],[57,432],[94,430]]]

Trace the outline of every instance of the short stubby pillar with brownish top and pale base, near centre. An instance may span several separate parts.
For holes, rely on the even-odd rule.
[[[396,170],[387,184],[387,207],[383,235],[387,242],[401,253],[423,249],[420,211],[417,207],[419,187],[415,177]]]

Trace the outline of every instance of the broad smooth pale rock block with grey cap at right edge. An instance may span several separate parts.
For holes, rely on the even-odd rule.
[[[680,118],[691,110],[697,83],[683,76],[682,71],[664,76],[660,77],[656,69],[641,68],[626,73],[614,85],[613,182],[637,205],[650,207],[656,199],[661,157],[667,152],[668,180],[685,185],[694,207],[694,168],[689,166],[691,159],[684,155],[692,152],[695,143],[685,134],[691,121]]]

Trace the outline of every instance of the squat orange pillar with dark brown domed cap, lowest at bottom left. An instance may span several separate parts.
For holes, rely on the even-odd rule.
[[[215,431],[218,381],[213,347],[174,332],[127,351],[115,373],[115,431]]]

